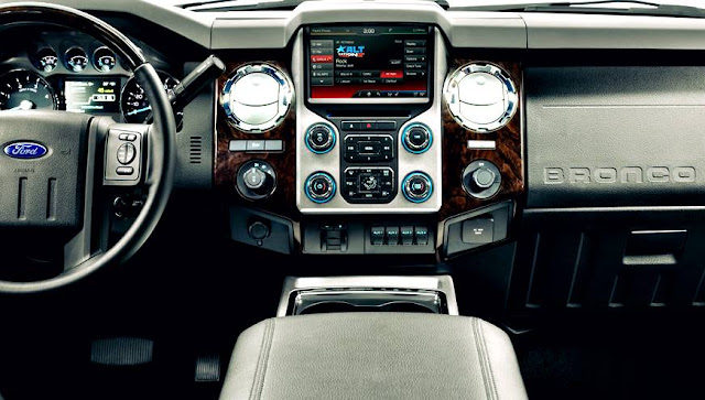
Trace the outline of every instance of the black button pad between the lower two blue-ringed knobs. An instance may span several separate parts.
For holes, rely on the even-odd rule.
[[[388,166],[348,167],[343,182],[343,197],[351,203],[389,203],[394,195],[394,172]]]

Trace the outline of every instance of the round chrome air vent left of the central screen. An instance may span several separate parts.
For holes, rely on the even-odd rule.
[[[225,83],[220,104],[230,125],[260,133],[275,128],[286,116],[294,97],[283,71],[269,64],[248,64]]]

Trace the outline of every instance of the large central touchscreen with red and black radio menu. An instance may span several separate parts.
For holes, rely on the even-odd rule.
[[[313,26],[310,99],[429,97],[427,26]]]

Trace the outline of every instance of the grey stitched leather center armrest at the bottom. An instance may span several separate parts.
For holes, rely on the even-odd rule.
[[[235,346],[220,399],[527,399],[507,334],[475,317],[270,318]]]

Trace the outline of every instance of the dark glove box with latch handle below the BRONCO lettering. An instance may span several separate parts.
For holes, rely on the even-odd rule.
[[[527,210],[513,311],[702,309],[705,210]]]

